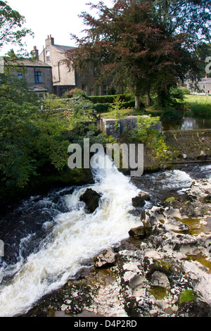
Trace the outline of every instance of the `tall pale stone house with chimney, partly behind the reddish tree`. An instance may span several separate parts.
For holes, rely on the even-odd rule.
[[[54,38],[50,35],[46,39],[46,46],[39,54],[39,61],[51,65],[53,94],[62,96],[65,92],[77,87],[83,89],[88,96],[107,95],[110,85],[109,80],[105,80],[101,85],[95,86],[96,73],[94,70],[88,70],[87,73],[79,75],[75,69],[68,68],[65,63],[65,52],[73,48],[55,44]]]

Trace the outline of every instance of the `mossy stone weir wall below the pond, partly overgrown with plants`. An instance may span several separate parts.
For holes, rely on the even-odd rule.
[[[133,130],[137,125],[137,117],[129,116],[115,120],[113,118],[98,119],[98,129],[116,139],[124,128]],[[186,163],[211,162],[211,128],[203,130],[162,130],[162,122],[153,127],[165,137],[167,149],[171,153],[170,161],[165,166],[183,165]],[[149,146],[144,148],[144,170],[159,170],[160,163],[152,156]]]

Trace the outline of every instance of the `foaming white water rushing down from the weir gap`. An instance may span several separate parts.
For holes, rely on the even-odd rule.
[[[140,218],[128,213],[133,208],[132,197],[139,192],[129,178],[116,168],[95,170],[94,177],[96,184],[90,187],[102,194],[94,214],[87,214],[79,201],[87,187],[75,189],[64,197],[70,211],[58,215],[39,251],[0,273],[0,280],[15,273],[9,284],[0,287],[1,317],[25,313],[41,296],[64,285],[87,258],[120,242],[131,227],[140,225]]]

